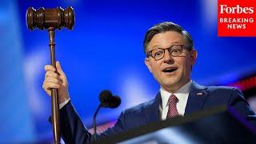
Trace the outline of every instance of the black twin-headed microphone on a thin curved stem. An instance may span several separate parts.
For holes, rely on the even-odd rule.
[[[98,111],[102,107],[109,107],[111,109],[114,109],[121,104],[121,98],[118,96],[113,96],[110,90],[102,90],[98,98],[101,103],[98,105],[98,108],[94,113],[94,134],[96,134],[96,116],[98,114]]]

